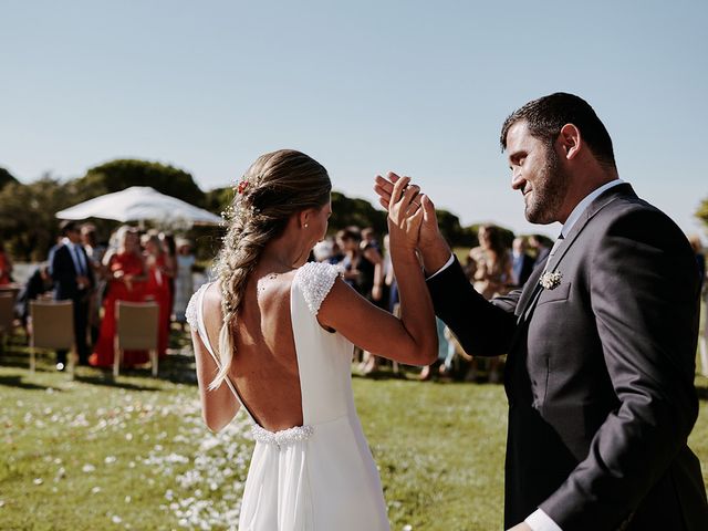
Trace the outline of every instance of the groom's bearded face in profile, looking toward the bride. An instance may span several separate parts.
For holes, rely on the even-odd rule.
[[[524,214],[532,223],[559,220],[569,180],[553,146],[531,135],[525,122],[518,122],[507,134],[511,187],[523,194]]]

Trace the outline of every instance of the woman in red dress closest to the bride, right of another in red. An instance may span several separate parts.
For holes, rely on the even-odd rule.
[[[170,270],[167,254],[157,235],[145,235],[143,237],[143,247],[145,248],[145,263],[147,264],[145,299],[155,301],[159,306],[157,354],[162,360],[167,355],[169,342],[169,317],[171,314]]]

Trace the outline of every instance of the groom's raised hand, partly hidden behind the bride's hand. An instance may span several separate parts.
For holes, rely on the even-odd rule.
[[[378,194],[378,202],[388,210],[391,195],[394,184],[400,179],[399,176],[389,171],[387,178],[376,176],[374,191]],[[435,273],[447,263],[451,251],[438,228],[438,219],[435,215],[435,205],[426,195],[420,197],[423,207],[423,225],[418,235],[418,250],[423,257],[423,264],[428,274]]]

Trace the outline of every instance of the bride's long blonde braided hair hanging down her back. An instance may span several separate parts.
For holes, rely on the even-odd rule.
[[[233,324],[261,251],[282,235],[292,215],[326,205],[332,184],[320,163],[303,153],[281,149],[261,155],[236,190],[225,212],[228,230],[217,258],[223,322],[219,332],[221,363],[210,389],[218,388],[229,373],[236,350]]]

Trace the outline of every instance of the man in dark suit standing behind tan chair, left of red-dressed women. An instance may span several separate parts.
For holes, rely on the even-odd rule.
[[[50,250],[50,273],[54,280],[54,299],[74,303],[74,334],[79,363],[88,363],[86,330],[88,325],[88,299],[93,287],[93,272],[86,251],[81,244],[81,227],[76,221],[62,221],[62,240]],[[66,366],[66,352],[56,352],[56,368]]]

